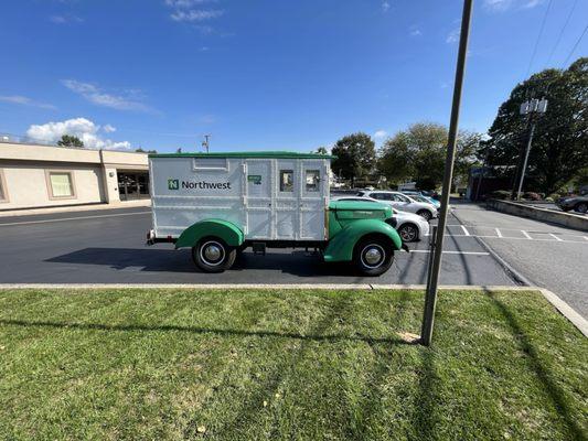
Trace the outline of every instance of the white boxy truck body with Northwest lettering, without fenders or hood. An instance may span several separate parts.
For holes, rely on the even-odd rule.
[[[245,239],[327,240],[331,157],[290,152],[149,157],[157,238],[223,219]]]

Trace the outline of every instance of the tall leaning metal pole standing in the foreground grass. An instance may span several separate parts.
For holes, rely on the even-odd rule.
[[[453,103],[451,106],[451,119],[449,123],[449,137],[447,142],[447,158],[445,161],[443,187],[441,191],[441,209],[439,213],[439,224],[435,249],[432,250],[432,265],[429,268],[427,292],[425,297],[425,311],[423,313],[423,329],[420,331],[420,343],[425,346],[431,344],[432,325],[435,322],[435,306],[437,303],[437,289],[439,286],[439,272],[441,269],[441,254],[443,251],[443,236],[447,224],[447,209],[449,207],[449,193],[451,192],[451,181],[453,178],[453,163],[456,161],[456,143],[458,138],[459,108],[461,105],[461,90],[463,87],[463,74],[466,72],[466,58],[468,55],[468,39],[470,35],[470,22],[473,0],[463,1],[463,13],[461,17],[461,33],[459,37],[458,62],[456,68],[456,83],[453,85]]]

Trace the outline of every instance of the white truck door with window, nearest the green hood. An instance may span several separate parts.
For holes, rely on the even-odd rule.
[[[300,170],[300,239],[324,240],[329,176],[324,161],[304,160]]]

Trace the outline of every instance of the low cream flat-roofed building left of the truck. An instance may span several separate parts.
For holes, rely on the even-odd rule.
[[[146,153],[0,142],[0,211],[149,198]]]

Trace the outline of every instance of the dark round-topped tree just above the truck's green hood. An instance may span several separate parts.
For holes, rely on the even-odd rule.
[[[357,132],[341,138],[331,153],[336,157],[331,165],[333,173],[351,180],[352,186],[355,185],[355,179],[375,170],[375,143],[366,133]]]

